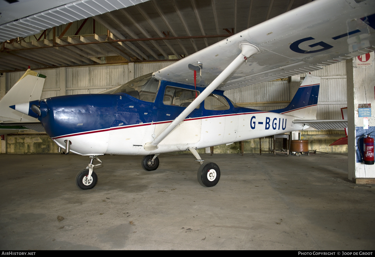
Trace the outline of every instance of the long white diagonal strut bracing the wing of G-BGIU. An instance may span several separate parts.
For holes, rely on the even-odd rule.
[[[167,136],[172,130],[178,126],[204,99],[210,95],[233,71],[235,71],[243,62],[247,62],[247,58],[253,54],[259,53],[259,48],[255,45],[249,44],[248,42],[240,42],[239,48],[242,50],[241,53],[236,57],[236,59],[231,62],[228,67],[226,67],[220,74],[217,76],[211,84],[209,84],[205,90],[197,97],[195,100],[189,104],[186,109],[175,118],[168,127],[158,135],[154,141],[145,143],[143,148],[146,151],[156,150],[157,145]]]

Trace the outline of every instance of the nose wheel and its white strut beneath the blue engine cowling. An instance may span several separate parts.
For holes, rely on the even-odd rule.
[[[102,164],[102,161],[98,158],[98,156],[100,155],[90,155],[89,166],[87,166],[86,169],[81,170],[75,177],[75,184],[79,189],[92,189],[94,188],[96,183],[98,183],[98,176],[96,176],[96,173],[94,172],[94,167]],[[94,159],[99,161],[100,163],[93,164]]]

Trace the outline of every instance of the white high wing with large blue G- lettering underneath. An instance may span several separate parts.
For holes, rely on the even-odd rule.
[[[240,42],[260,52],[217,89],[229,90],[322,69],[375,50],[375,1],[317,0],[217,42],[160,71],[160,80],[193,85],[189,64],[202,63],[198,86],[208,86],[236,56]]]

